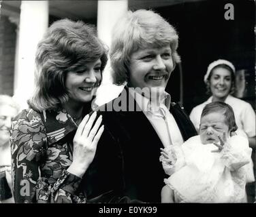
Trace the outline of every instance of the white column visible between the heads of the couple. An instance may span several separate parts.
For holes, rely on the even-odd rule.
[[[99,38],[110,47],[114,24],[128,9],[128,0],[98,1],[97,31]],[[101,105],[109,102],[123,90],[123,86],[112,84],[110,61],[103,72],[103,81],[97,91],[96,103]]]

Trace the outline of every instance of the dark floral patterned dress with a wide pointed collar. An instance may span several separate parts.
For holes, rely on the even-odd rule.
[[[78,125],[64,109],[23,110],[11,130],[16,203],[85,203],[81,178],[67,172]]]

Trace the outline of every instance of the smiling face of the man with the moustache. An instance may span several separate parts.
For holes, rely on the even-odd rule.
[[[174,70],[170,45],[139,49],[130,58],[130,87],[165,88]]]

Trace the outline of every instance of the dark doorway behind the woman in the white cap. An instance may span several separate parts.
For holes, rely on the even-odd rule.
[[[225,4],[234,5],[234,20],[225,20]],[[182,60],[184,107],[187,113],[204,102],[204,75],[208,64],[223,58],[236,70],[245,71],[246,93],[240,97],[255,109],[255,1],[193,1],[155,8],[176,27],[178,53]],[[172,100],[180,100],[179,72],[176,67],[168,83]]]

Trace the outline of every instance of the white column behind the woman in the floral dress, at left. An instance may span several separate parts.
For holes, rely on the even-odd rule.
[[[14,98],[22,108],[33,93],[37,43],[48,28],[48,1],[21,1]]]

